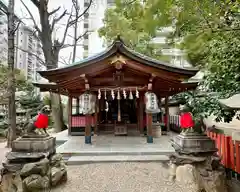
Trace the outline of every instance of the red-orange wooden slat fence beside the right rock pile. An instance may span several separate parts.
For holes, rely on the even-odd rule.
[[[235,141],[231,136],[213,131],[207,135],[215,141],[221,163],[227,169],[228,176],[240,180],[240,141]]]

